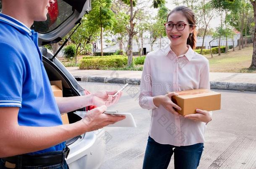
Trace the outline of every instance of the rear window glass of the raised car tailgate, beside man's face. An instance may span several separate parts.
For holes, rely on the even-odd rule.
[[[74,9],[71,5],[63,0],[54,0],[55,3],[48,8],[47,20],[34,22],[31,29],[34,29],[38,33],[49,33],[61,25],[65,20],[70,17]]]

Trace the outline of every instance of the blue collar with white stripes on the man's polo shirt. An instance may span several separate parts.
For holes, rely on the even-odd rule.
[[[17,28],[18,30],[20,30],[23,33],[31,33],[31,29],[28,28],[24,23],[21,23],[20,21],[16,20],[15,18],[12,18],[3,13],[0,13],[0,21],[8,23],[9,25],[12,25],[13,27]]]

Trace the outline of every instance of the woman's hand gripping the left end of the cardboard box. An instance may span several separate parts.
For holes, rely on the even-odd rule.
[[[178,93],[170,92],[164,96],[156,96],[153,98],[153,102],[157,107],[162,105],[164,106],[165,109],[170,111],[172,114],[181,116],[177,111],[174,110],[174,108],[177,108],[178,110],[181,110],[181,108],[177,104],[172,102],[172,96],[177,96],[177,95]]]

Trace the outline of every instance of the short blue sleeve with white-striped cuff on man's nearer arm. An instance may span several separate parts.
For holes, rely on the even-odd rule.
[[[12,46],[0,42],[0,107],[20,107],[24,61]]]

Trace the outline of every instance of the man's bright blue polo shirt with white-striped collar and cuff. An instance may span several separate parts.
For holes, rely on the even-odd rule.
[[[62,124],[60,111],[42,63],[37,37],[23,23],[0,14],[0,106],[19,107],[20,126],[58,126]],[[64,147],[65,142],[29,154],[59,151]]]

